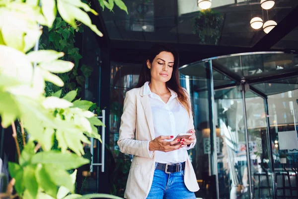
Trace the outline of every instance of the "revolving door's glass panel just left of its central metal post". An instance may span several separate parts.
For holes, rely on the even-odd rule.
[[[243,99],[236,87],[215,92],[220,199],[249,199]]]

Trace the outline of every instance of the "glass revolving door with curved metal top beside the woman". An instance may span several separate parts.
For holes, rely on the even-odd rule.
[[[197,198],[298,196],[297,66],[297,55],[258,52],[179,68],[193,104]]]

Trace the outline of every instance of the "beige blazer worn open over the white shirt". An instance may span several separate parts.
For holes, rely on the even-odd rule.
[[[149,141],[155,138],[149,96],[143,96],[144,86],[126,93],[119,131],[118,145],[122,153],[134,155],[124,197],[146,199],[153,181],[155,156],[148,153]],[[188,130],[194,129],[190,116]],[[196,175],[189,157],[184,170],[184,183],[191,192],[198,191]]]

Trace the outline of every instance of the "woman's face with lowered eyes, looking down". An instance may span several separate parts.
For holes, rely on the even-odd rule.
[[[147,60],[147,67],[150,69],[151,81],[167,82],[172,77],[174,56],[170,52],[162,51],[152,61]]]

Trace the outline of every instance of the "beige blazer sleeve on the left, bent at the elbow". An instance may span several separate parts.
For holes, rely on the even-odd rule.
[[[135,156],[152,158],[148,146],[150,141],[135,140],[137,122],[136,94],[128,91],[124,99],[123,114],[119,129],[119,140],[117,142],[120,151]]]

